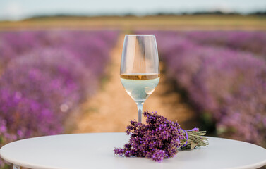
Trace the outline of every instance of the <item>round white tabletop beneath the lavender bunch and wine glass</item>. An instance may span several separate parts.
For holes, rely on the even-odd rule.
[[[179,151],[156,163],[148,158],[114,156],[114,147],[128,142],[124,133],[63,134],[11,142],[0,155],[13,168],[259,168],[266,165],[266,149],[231,139],[210,137],[210,146]]]

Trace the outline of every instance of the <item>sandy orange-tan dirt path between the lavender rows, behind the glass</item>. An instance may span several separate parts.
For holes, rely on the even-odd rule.
[[[111,51],[108,82],[92,99],[83,104],[83,115],[78,120],[74,133],[124,132],[129,120],[138,119],[137,106],[120,82],[123,37],[123,34],[119,36],[116,46]],[[193,127],[193,111],[188,105],[181,103],[179,94],[171,92],[172,90],[171,84],[161,73],[160,82],[155,92],[145,101],[143,111],[157,111],[170,120],[178,120],[183,127]]]

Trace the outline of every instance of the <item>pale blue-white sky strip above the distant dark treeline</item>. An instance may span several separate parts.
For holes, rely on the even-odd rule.
[[[266,0],[0,0],[0,20],[34,15],[147,15],[196,11],[266,11]]]

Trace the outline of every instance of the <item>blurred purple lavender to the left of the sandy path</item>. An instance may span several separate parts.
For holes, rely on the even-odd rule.
[[[118,35],[0,32],[0,146],[63,133],[69,114],[99,86]]]

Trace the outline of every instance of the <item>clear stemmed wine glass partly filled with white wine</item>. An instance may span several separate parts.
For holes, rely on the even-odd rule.
[[[159,83],[159,58],[155,35],[126,35],[123,42],[120,79],[138,106],[141,123],[144,101]]]

